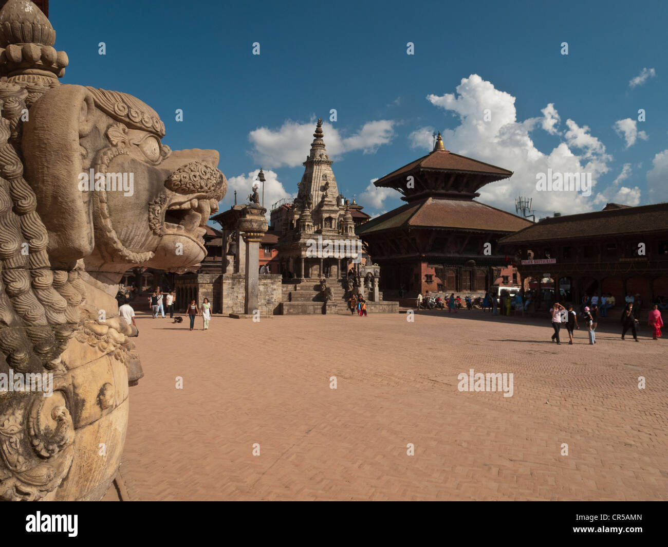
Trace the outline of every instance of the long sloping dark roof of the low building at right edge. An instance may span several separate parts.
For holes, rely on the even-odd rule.
[[[507,235],[501,239],[500,243],[577,239],[655,231],[668,231],[668,203],[550,217],[522,231]]]

